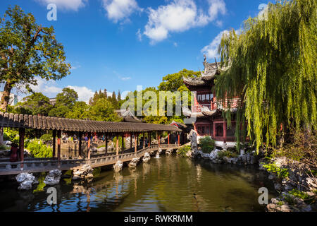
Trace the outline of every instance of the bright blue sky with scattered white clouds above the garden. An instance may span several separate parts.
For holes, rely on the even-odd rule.
[[[57,6],[49,21],[46,6]],[[220,34],[257,16],[264,0],[2,0],[0,15],[18,5],[37,23],[56,31],[71,73],[60,81],[39,80],[34,88],[54,97],[70,86],[87,101],[95,90],[108,92],[158,86],[163,76],[203,69],[213,62]],[[14,90],[13,92],[16,92]],[[23,94],[18,93],[23,96]],[[25,94],[24,94],[25,95]]]

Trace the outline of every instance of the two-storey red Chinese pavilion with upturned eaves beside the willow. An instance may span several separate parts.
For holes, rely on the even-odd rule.
[[[187,88],[194,93],[194,105],[192,109],[183,108],[186,117],[194,117],[194,130],[198,136],[211,136],[218,147],[233,147],[235,143],[235,114],[232,117],[231,127],[222,117],[224,107],[229,106],[230,111],[235,112],[239,98],[225,100],[223,107],[217,102],[215,93],[212,92],[214,79],[220,74],[220,64],[208,63],[204,59],[204,71],[197,78],[183,78]],[[230,129],[228,128],[230,127]]]

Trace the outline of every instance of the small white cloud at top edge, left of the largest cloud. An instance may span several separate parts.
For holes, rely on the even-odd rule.
[[[135,0],[102,0],[104,9],[107,12],[109,20],[117,23],[118,20],[125,21],[128,20],[128,17],[135,11],[142,11],[142,8],[139,8],[137,1]],[[130,21],[130,20],[128,20]]]

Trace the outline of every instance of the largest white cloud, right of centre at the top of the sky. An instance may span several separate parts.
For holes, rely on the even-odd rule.
[[[151,44],[165,40],[169,32],[182,32],[190,28],[204,26],[215,20],[218,14],[225,14],[223,0],[209,0],[208,13],[197,8],[194,0],[173,0],[156,10],[148,8],[149,20],[144,28],[144,35]]]

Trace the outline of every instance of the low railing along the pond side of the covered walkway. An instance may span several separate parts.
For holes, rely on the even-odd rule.
[[[58,161],[56,158],[25,158],[23,162],[9,162],[9,160],[6,159],[6,162],[0,162],[0,175],[18,174],[21,172],[46,172],[51,169],[78,169],[85,164],[89,164],[92,167],[101,167],[104,165],[112,165],[118,160],[122,162],[130,161],[135,157],[142,157],[146,152],[159,150],[159,148],[178,148],[178,145],[150,145],[141,150],[137,150],[137,152],[122,153],[119,155],[116,155],[116,153],[108,153],[90,159],[68,159]]]

